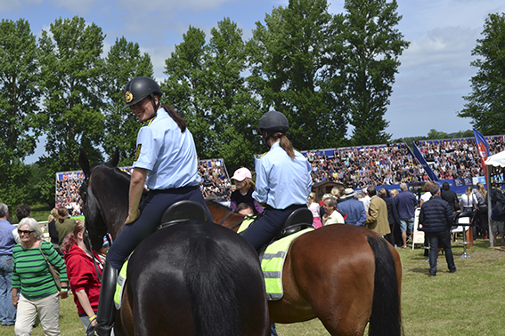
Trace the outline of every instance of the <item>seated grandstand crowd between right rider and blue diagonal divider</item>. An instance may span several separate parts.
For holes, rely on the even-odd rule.
[[[348,188],[383,186],[428,180],[428,175],[405,144],[335,148],[333,157],[325,151],[308,150],[314,183],[330,180]]]

